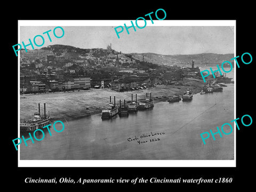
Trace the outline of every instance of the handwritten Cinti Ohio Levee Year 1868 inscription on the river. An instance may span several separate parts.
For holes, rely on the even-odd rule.
[[[165,132],[142,133],[139,137],[135,135],[134,137],[128,138],[127,141],[137,141],[139,145],[143,145],[145,143],[160,141],[161,139],[159,137],[162,137],[164,134]]]

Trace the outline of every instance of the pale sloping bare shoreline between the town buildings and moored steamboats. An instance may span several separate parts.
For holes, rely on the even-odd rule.
[[[182,95],[188,87],[193,94],[199,93],[204,85],[202,79],[185,78],[177,85],[157,85],[137,91],[116,92],[110,89],[93,89],[79,92],[30,94],[25,95],[25,98],[20,95],[20,121],[31,118],[38,111],[38,103],[41,105],[41,115],[44,114],[43,103],[46,103],[46,114],[50,111],[53,121],[71,121],[95,114],[100,115],[101,110],[108,105],[110,95],[112,101],[116,96],[116,103],[119,103],[119,99],[130,101],[131,94],[135,99],[137,93],[139,100],[145,98],[146,93],[151,92],[154,103],[157,103],[166,101],[171,95]]]

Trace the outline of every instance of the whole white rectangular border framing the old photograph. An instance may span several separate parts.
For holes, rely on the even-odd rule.
[[[147,26],[234,26],[234,54],[236,57],[236,20],[153,20],[154,24],[150,20],[147,21],[149,21]],[[123,23],[128,25],[131,21],[18,20],[18,42],[20,42],[20,26],[122,26]],[[235,119],[236,67],[234,73]],[[18,94],[18,137],[20,138],[20,53],[18,54]],[[235,122],[234,127],[236,127]],[[18,167],[236,167],[236,129],[234,129],[234,137],[234,160],[20,160],[20,146],[18,146]]]

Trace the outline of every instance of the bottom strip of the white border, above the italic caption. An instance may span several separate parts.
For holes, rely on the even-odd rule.
[[[235,160],[20,160],[19,167],[235,167]]]

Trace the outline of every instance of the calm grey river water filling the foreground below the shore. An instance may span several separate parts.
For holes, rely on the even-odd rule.
[[[51,136],[46,131],[41,141],[28,140],[27,147],[21,143],[20,159],[234,159],[234,131],[222,138],[215,134],[215,140],[205,140],[206,145],[200,136],[217,132],[217,126],[221,129],[234,119],[234,84],[226,85],[223,92],[194,94],[190,102],[158,102],[153,109],[129,117],[102,121],[100,115],[92,115],[63,121],[62,132],[51,127]],[[56,127],[62,129],[60,123]],[[230,131],[228,126],[224,129]]]

